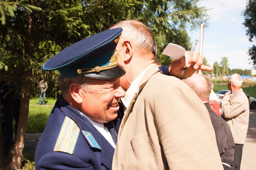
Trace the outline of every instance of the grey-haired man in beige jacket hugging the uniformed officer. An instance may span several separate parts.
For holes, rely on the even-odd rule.
[[[152,32],[134,20],[116,27],[123,28],[116,50],[126,111],[112,169],[223,170],[207,109],[184,82],[159,72]]]

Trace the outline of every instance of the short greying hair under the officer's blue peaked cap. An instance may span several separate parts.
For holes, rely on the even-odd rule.
[[[58,87],[61,89],[63,94],[67,94],[69,92],[69,87],[71,83],[77,83],[81,86],[82,89],[86,92],[91,92],[90,84],[92,82],[92,78],[86,76],[79,76],[79,77],[71,77],[71,78],[64,78],[60,76],[58,78]]]

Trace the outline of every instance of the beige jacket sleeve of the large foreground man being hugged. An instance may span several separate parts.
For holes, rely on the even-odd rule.
[[[186,86],[167,86],[154,102],[156,127],[169,169],[223,170],[209,113],[192,93]]]

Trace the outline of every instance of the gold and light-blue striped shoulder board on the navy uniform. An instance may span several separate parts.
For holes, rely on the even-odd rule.
[[[76,147],[79,133],[80,129],[76,125],[76,122],[66,116],[61,126],[61,130],[58,135],[54,151],[65,152],[72,155]]]

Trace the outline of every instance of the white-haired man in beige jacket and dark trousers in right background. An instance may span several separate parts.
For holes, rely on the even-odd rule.
[[[233,74],[228,79],[228,89],[221,101],[222,116],[230,126],[236,144],[234,163],[240,170],[243,146],[249,125],[249,103],[242,86],[243,79],[239,74]]]

